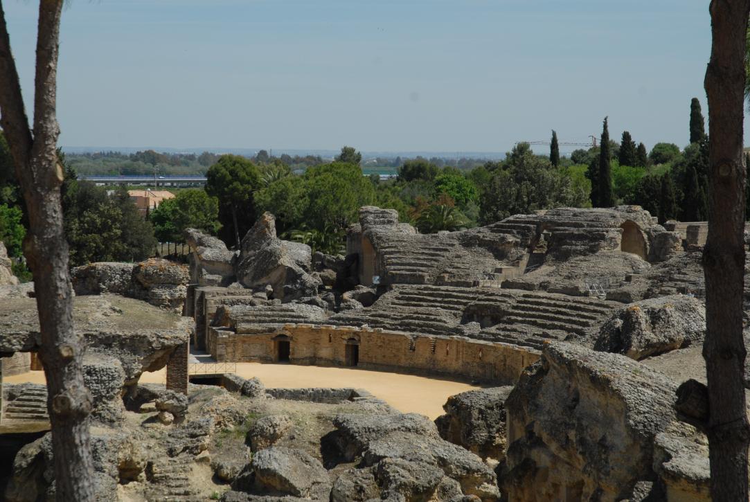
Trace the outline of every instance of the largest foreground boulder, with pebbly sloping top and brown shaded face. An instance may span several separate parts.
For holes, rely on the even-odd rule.
[[[676,383],[613,353],[544,346],[505,400],[509,500],[622,500],[653,481],[654,440],[675,419]]]

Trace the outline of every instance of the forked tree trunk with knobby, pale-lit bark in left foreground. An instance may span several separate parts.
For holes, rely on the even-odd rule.
[[[83,340],[73,326],[68,242],[62,227],[62,167],[56,147],[56,77],[62,0],[40,0],[34,88],[34,127],[29,131],[20,81],[0,0],[0,124],[5,131],[28,208],[24,254],[34,276],[46,375],[57,500],[93,500],[89,445],[91,396],[83,383]]]

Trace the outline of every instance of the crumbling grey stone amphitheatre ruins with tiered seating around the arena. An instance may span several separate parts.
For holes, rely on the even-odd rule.
[[[705,381],[705,230],[618,206],[420,234],[367,206],[340,256],[279,239],[266,213],[237,250],[186,230],[187,266],[74,269],[98,496],[710,500],[706,437],[676,393]],[[40,369],[33,296],[0,287],[13,502],[55,493],[46,389],[24,380]],[[299,388],[243,363],[286,364]],[[432,420],[347,380],[306,385],[302,366],[472,389]]]

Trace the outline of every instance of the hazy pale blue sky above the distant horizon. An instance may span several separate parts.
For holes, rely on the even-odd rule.
[[[708,4],[73,0],[61,143],[502,152],[608,115],[613,138],[684,146]],[[38,2],[4,5],[28,100]]]

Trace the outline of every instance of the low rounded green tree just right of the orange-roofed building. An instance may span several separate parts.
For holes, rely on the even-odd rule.
[[[154,234],[160,242],[181,242],[182,230],[196,228],[215,235],[219,230],[219,201],[200,188],[178,191],[151,212]]]

